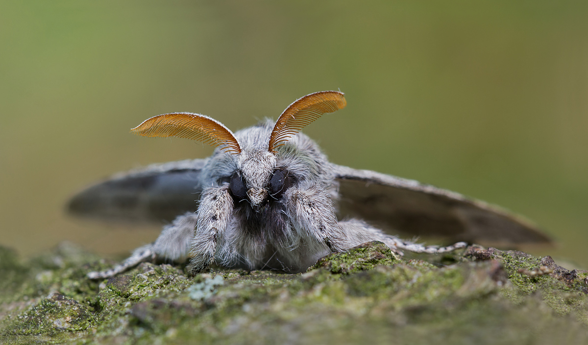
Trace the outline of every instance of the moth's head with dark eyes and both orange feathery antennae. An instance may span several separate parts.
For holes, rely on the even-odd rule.
[[[181,137],[220,147],[219,162],[230,161],[236,166],[230,177],[218,176],[229,182],[236,201],[249,201],[254,209],[263,207],[270,198],[279,199],[293,182],[287,170],[276,168],[278,147],[322,114],[332,113],[346,106],[343,93],[323,91],[296,100],[278,118],[269,140],[263,146],[243,147],[229,128],[211,117],[193,113],[171,113],[152,117],[132,128],[146,137]],[[223,170],[223,169],[221,169]],[[227,181],[228,180],[228,181]]]

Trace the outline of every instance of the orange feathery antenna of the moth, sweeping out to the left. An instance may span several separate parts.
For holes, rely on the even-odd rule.
[[[201,141],[231,154],[241,152],[235,135],[222,123],[208,116],[192,113],[171,113],[153,116],[131,131],[143,137],[179,137]]]

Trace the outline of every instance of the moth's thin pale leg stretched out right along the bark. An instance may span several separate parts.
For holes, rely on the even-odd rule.
[[[374,228],[358,219],[349,219],[349,221],[339,222],[339,224],[346,234],[348,234],[350,240],[357,243],[357,245],[369,241],[380,241],[384,242],[390,247],[390,249],[392,249],[392,251],[399,253],[400,255],[403,255],[402,250],[414,253],[439,254],[455,251],[456,249],[467,246],[466,242],[457,242],[445,247],[425,246],[412,241],[400,239],[396,236],[384,234],[382,230]]]

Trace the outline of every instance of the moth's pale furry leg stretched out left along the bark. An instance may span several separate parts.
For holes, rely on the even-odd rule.
[[[197,219],[198,217],[193,213],[179,216],[172,224],[163,228],[161,235],[155,242],[135,249],[129,258],[111,269],[89,272],[88,278],[110,278],[145,261],[155,261],[156,259],[181,261],[186,259]]]

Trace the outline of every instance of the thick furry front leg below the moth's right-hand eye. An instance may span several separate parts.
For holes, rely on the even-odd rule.
[[[303,183],[290,188],[282,197],[296,231],[306,238],[314,238],[332,252],[342,252],[353,245],[337,222],[335,206],[329,192],[318,185]]]

